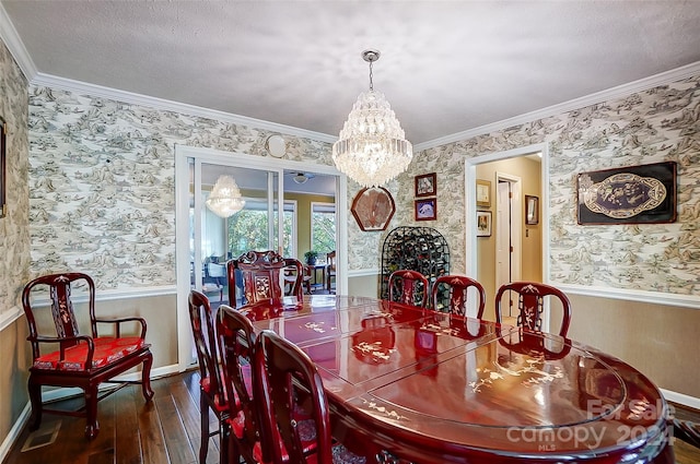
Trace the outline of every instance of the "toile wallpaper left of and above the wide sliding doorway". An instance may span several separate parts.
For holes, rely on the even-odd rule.
[[[32,87],[32,274],[81,270],[101,289],[174,285],[175,145],[265,156],[270,134]],[[327,143],[285,139],[287,158],[332,163]]]

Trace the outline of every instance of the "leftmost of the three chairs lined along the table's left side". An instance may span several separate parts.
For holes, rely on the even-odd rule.
[[[215,314],[209,304],[209,298],[200,292],[189,293],[189,321],[199,361],[199,413],[200,413],[200,444],[199,463],[207,462],[209,453],[209,439],[219,435],[220,462],[229,462],[231,427],[229,417],[232,411],[237,408],[236,400],[230,402],[223,382],[221,370],[221,359],[215,334]],[[217,431],[209,431],[209,412],[217,417],[219,428]]]

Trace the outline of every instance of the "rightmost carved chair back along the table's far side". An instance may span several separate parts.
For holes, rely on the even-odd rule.
[[[571,323],[571,302],[563,292],[551,285],[537,282],[511,282],[501,285],[495,294],[495,321],[498,323],[503,322],[501,306],[506,292],[517,294],[517,325],[533,331],[541,331],[545,297],[549,296],[559,300],[562,311],[559,335],[567,336]],[[509,305],[512,305],[510,296],[508,301]]]

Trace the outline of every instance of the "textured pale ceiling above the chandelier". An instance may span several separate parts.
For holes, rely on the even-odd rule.
[[[369,87],[423,143],[700,61],[698,1],[11,1],[42,74],[337,136]]]

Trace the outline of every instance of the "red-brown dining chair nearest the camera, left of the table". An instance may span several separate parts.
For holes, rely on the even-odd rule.
[[[320,374],[299,347],[264,330],[256,341],[254,376],[259,381],[262,436],[279,437],[264,442],[273,464],[366,463],[365,456],[334,442]],[[299,414],[308,418],[299,420]]]

